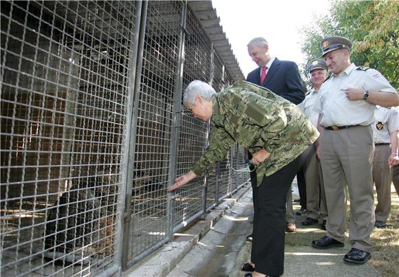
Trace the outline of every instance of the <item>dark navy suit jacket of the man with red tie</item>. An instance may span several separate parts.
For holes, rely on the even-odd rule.
[[[277,95],[299,104],[305,99],[305,89],[302,85],[296,63],[289,60],[275,59],[261,84],[261,68],[251,71],[246,80],[256,85],[270,89]]]

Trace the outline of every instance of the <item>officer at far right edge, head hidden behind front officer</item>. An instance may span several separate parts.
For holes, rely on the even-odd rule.
[[[385,227],[391,211],[391,168],[398,159],[399,113],[395,108],[376,106],[374,111],[374,159],[373,179],[377,190],[376,223],[377,228]],[[390,143],[390,144],[389,144]]]

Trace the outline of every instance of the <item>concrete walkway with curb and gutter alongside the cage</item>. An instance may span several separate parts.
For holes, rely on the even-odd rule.
[[[293,187],[295,199],[298,198],[296,184]],[[244,276],[241,265],[250,260],[251,248],[251,243],[246,241],[252,231],[250,185],[233,197],[226,199],[204,220],[175,234],[173,243],[164,245],[122,276]],[[294,210],[298,209],[299,206],[294,206]],[[339,249],[311,247],[309,234],[319,239],[325,231],[319,226],[305,228],[301,225],[303,218],[297,217],[296,232],[286,234],[283,276],[380,276],[369,263],[350,265],[343,261],[350,249],[349,242]]]

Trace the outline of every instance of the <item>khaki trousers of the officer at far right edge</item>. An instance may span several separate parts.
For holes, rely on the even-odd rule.
[[[376,220],[387,221],[391,212],[391,168],[388,158],[391,155],[389,144],[376,144],[373,159],[373,179],[377,190]]]

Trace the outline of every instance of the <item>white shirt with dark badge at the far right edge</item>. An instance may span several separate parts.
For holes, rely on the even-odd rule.
[[[374,143],[390,143],[389,133],[399,130],[399,113],[395,107],[389,109],[376,106],[373,126]]]

